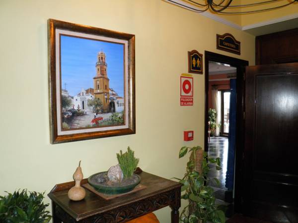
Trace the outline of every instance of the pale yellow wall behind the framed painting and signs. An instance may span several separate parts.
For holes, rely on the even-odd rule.
[[[49,142],[47,19],[136,35],[137,134],[51,145]],[[0,194],[18,188],[46,191],[117,163],[131,146],[143,170],[181,177],[183,145],[203,145],[204,75],[194,75],[194,106],[179,106],[179,76],[187,51],[205,50],[254,64],[254,36],[161,0],[0,1]],[[241,56],[216,50],[216,34],[232,33]],[[194,141],[183,142],[183,130]],[[46,198],[46,202],[50,202]],[[168,223],[169,208],[157,212]]]

